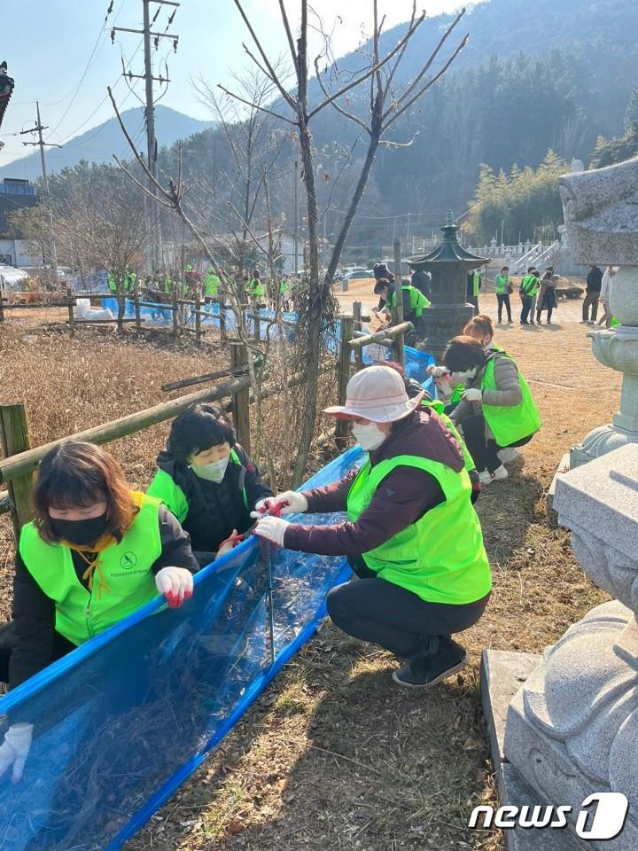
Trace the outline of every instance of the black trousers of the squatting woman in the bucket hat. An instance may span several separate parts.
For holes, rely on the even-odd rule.
[[[463,632],[485,611],[488,597],[465,605],[429,603],[400,585],[377,579],[362,560],[353,561],[361,578],[331,590],[331,621],[347,635],[378,644],[401,659],[416,659],[428,651],[433,636]]]

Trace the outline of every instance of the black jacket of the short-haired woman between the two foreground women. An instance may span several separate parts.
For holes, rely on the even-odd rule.
[[[169,452],[160,452],[157,459],[159,469],[182,488],[188,500],[189,512],[182,526],[191,535],[192,548],[200,564],[213,560],[219,545],[232,535],[233,529],[242,533],[253,526],[250,512],[255,503],[273,496],[244,449],[238,443],[233,449],[241,464],[230,463],[219,484],[199,479],[190,467],[176,461]]]

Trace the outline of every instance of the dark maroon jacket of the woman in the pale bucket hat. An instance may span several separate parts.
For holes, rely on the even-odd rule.
[[[432,410],[422,410],[394,423],[390,436],[376,451],[370,452],[374,466],[387,458],[413,455],[432,458],[451,467],[463,470],[463,452],[445,426]],[[347,495],[356,472],[345,479],[306,491],[307,510],[312,513],[346,511]],[[355,522],[335,526],[291,525],[286,529],[284,545],[291,550],[315,552],[329,556],[356,556],[368,552],[393,535],[401,532],[423,517],[444,500],[438,480],[429,472],[414,467],[396,467],[377,488],[368,508]]]

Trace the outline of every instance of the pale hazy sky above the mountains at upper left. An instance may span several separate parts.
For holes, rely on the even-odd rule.
[[[124,109],[140,105],[121,77],[121,57],[133,73],[144,71],[141,36],[116,33],[111,43],[111,27],[142,26],[142,0],[113,0],[113,12],[105,23],[110,0],[0,0],[2,3],[3,45],[0,61],[6,59],[15,90],[4,115],[0,138],[4,148],[0,163],[24,156],[17,137],[21,129],[35,123],[35,100],[40,101],[45,139],[62,143],[106,121],[113,114],[106,86],[114,84],[114,95]],[[458,0],[431,0],[429,15],[450,12]],[[315,0],[324,27],[333,31],[333,51],[341,55],[361,43],[370,33],[370,0]],[[292,22],[296,21],[298,0],[286,0]],[[159,4],[152,3],[152,14]],[[255,30],[273,58],[286,48],[279,17],[278,0],[245,0],[245,10]],[[390,27],[408,20],[411,0],[379,0],[379,12]],[[164,32],[173,7],[164,5],[154,30]],[[337,16],[341,16],[341,20]],[[167,59],[171,83],[162,103],[200,119],[210,113],[198,102],[191,80],[204,76],[211,83],[228,83],[233,71],[241,72],[251,60],[242,42],[250,36],[233,0],[182,0],[168,30],[179,35],[177,53],[168,39],[160,39],[153,54],[156,73]],[[87,70],[87,64],[90,64]],[[164,67],[163,64],[161,66]],[[83,79],[82,79],[83,77]],[[144,98],[144,82],[136,81],[135,91]],[[161,140],[159,140],[161,142]]]

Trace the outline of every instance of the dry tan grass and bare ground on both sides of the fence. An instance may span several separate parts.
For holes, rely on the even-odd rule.
[[[486,297],[486,312],[494,313],[493,301]],[[564,304],[550,328],[503,326],[497,334],[525,371],[544,425],[510,480],[486,488],[478,502],[494,595],[463,636],[471,668],[430,694],[406,694],[390,680],[389,654],[325,626],[130,851],[502,848],[497,834],[466,829],[472,806],[494,787],[478,699],[480,651],[539,652],[603,599],[544,511],[564,451],[608,421],[619,401],[619,379],[595,362],[579,312],[580,302]],[[161,381],[211,365],[204,355],[159,357],[110,339],[95,350],[59,334],[21,342],[15,328],[0,331],[0,358],[0,392],[27,400],[37,442],[156,402]],[[158,426],[116,447],[137,483],[148,480],[164,433]]]

